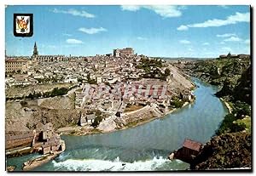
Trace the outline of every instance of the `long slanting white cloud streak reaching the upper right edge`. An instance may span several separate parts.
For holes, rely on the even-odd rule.
[[[250,13],[239,13],[236,12],[234,15],[228,16],[225,20],[213,19],[213,20],[206,20],[202,23],[195,23],[186,25],[186,27],[219,27],[219,26],[227,26],[232,25],[240,22],[250,22]],[[182,27],[183,26],[183,27]],[[182,27],[186,29],[184,25],[177,27],[177,30]]]

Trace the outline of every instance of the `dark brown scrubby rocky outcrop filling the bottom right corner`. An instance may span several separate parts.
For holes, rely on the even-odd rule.
[[[235,167],[252,167],[250,133],[225,133],[213,137],[190,164],[190,168],[196,170]]]

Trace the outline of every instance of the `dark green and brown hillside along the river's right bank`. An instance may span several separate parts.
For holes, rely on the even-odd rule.
[[[230,56],[230,55],[229,55]],[[232,111],[199,156],[192,169],[252,167],[252,65],[250,59],[206,60],[189,65],[192,75],[221,86],[216,94],[230,104]],[[189,69],[189,67],[188,67]]]

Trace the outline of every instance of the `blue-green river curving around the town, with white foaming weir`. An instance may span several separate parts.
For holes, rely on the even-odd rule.
[[[180,170],[189,164],[169,161],[172,150],[184,139],[206,143],[228,113],[224,103],[214,96],[218,87],[195,79],[195,102],[163,118],[113,133],[87,136],[62,136],[67,149],[55,160],[34,171],[160,171]],[[21,169],[38,154],[9,158],[7,164]]]

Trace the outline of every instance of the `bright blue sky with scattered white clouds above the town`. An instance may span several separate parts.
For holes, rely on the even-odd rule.
[[[33,14],[33,36],[15,37],[13,15]],[[7,55],[96,55],[113,48],[159,57],[250,54],[249,6],[8,6]]]

